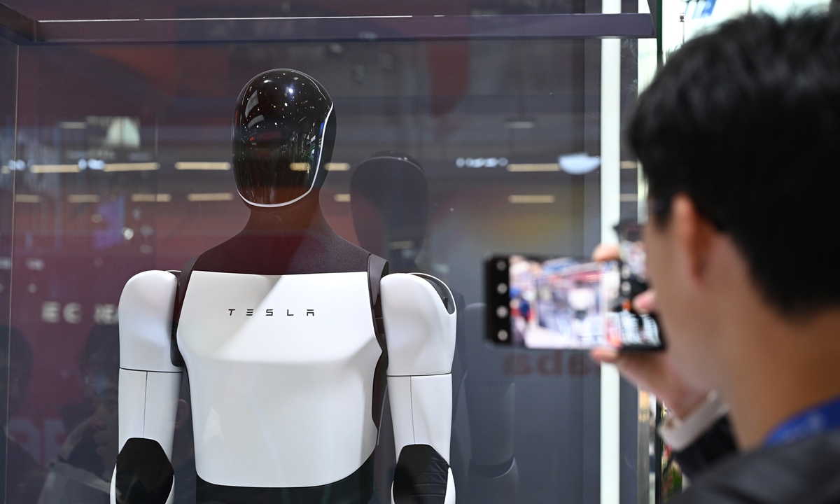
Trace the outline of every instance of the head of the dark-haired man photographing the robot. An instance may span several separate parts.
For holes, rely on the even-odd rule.
[[[650,275],[693,375],[708,376],[727,310],[806,323],[840,307],[840,268],[815,260],[838,241],[840,18],[748,16],[687,42],[629,138],[649,181]]]

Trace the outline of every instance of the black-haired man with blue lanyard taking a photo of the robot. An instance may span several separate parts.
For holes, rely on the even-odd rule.
[[[677,501],[840,501],[840,269],[813,259],[837,247],[840,18],[748,16],[691,40],[629,137],[669,337],[659,377],[685,380],[658,386],[718,391],[743,452]]]

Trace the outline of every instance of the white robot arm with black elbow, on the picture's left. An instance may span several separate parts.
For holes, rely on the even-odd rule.
[[[172,438],[182,369],[171,362],[178,281],[165,271],[132,277],[119,298],[119,454],[112,504],[172,501]]]

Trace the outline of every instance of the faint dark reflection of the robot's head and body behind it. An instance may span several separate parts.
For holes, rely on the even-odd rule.
[[[423,270],[418,259],[427,233],[428,193],[423,166],[400,152],[377,152],[353,171],[350,207],[356,236],[365,249],[385,256],[392,271]],[[453,296],[459,312],[453,409],[457,416],[458,391],[463,390],[469,420],[469,433],[460,433],[462,442],[455,443],[457,430],[452,438],[450,466],[459,483],[458,498],[462,504],[512,504],[519,484],[516,384],[502,371],[512,349],[487,341],[484,303],[465,307],[463,296],[457,291]],[[387,422],[383,427],[381,435],[386,435]],[[470,453],[461,454],[458,447],[465,438],[470,438]]]

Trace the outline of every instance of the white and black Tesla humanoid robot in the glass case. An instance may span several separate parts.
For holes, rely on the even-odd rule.
[[[386,384],[396,504],[454,503],[456,314],[442,281],[387,275],[318,206],[335,138],[312,77],[267,71],[239,95],[234,176],[251,215],[184,270],[145,271],[119,303],[120,452],[112,502],[171,502],[188,370],[197,502],[365,504]]]

